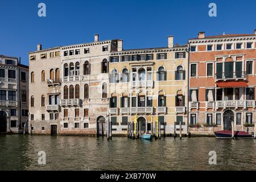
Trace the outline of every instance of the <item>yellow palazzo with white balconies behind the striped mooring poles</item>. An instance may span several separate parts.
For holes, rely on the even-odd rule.
[[[164,48],[123,50],[119,45],[109,58],[112,133],[127,134],[128,123],[135,121],[141,134],[155,133],[158,121],[162,135],[174,134],[175,122],[187,134],[187,45],[174,46],[172,36]]]

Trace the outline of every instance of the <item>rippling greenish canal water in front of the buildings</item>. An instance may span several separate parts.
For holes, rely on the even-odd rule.
[[[38,152],[46,152],[46,165]],[[216,151],[217,165],[209,165]],[[256,140],[0,136],[0,170],[256,170]]]

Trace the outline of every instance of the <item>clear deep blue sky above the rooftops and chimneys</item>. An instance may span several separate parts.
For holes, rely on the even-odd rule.
[[[38,16],[38,4],[46,3],[45,18]],[[208,5],[217,5],[217,17],[208,15]],[[0,2],[0,55],[22,58],[43,48],[123,39],[123,47],[166,47],[167,36],[185,44],[199,31],[206,35],[253,34],[256,28],[255,0],[31,0]]]

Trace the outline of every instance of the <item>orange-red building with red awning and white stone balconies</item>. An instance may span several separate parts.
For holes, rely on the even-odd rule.
[[[253,131],[256,31],[189,39],[189,131]]]

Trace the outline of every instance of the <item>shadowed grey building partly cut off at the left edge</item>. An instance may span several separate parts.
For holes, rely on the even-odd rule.
[[[27,132],[28,67],[0,55],[0,133]]]

